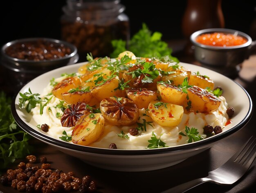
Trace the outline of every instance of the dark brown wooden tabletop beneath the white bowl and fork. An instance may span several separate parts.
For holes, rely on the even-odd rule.
[[[174,54],[179,53],[174,48]],[[178,44],[180,46],[180,44]],[[184,44],[183,44],[184,45]],[[180,50],[180,47],[179,47]],[[198,64],[191,56],[178,57],[182,62]],[[256,54],[252,55],[243,63],[243,68],[239,76],[235,79],[243,85],[247,92],[256,99]],[[184,162],[168,168],[147,171],[147,172],[117,172],[108,171],[94,166],[85,164],[79,159],[66,155],[56,148],[44,144],[38,140],[33,140],[36,147],[35,155],[39,158],[45,156],[52,164],[53,168],[61,168],[64,172],[73,171],[77,177],[91,175],[98,182],[98,192],[102,193],[133,193],[147,192],[158,193],[169,189],[178,184],[193,180],[198,177],[205,177],[207,173],[224,164],[238,148],[249,139],[250,136],[256,136],[256,128],[254,125],[256,113],[253,114],[249,123],[241,130],[231,135],[227,139],[223,139],[212,148],[204,152],[186,159]],[[231,186],[218,186],[216,184],[204,183],[188,193],[237,193],[237,192],[252,192],[256,190],[256,160],[249,172],[242,177],[238,182]],[[4,193],[17,193],[17,190],[11,187],[5,187],[0,184],[0,191]]]

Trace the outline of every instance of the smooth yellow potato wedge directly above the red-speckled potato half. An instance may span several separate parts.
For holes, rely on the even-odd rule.
[[[175,105],[182,105],[186,101],[186,94],[176,86],[168,83],[157,83],[157,90],[161,96],[161,101]]]

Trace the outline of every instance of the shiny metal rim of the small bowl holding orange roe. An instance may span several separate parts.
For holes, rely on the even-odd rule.
[[[239,36],[246,38],[247,42],[244,44],[241,44],[241,45],[222,47],[222,46],[204,45],[204,44],[201,44],[201,43],[198,43],[195,41],[195,38],[202,34],[209,34],[209,33],[214,33],[214,32],[220,32],[220,33],[226,33],[226,34],[238,33]],[[238,31],[238,30],[234,30],[234,29],[226,29],[226,28],[209,28],[209,29],[202,29],[199,31],[195,31],[193,34],[191,34],[190,40],[194,45],[197,45],[198,47],[203,47],[203,48],[207,48],[207,49],[218,49],[218,50],[244,48],[244,47],[248,47],[252,43],[252,38],[249,35],[243,33],[242,31]]]

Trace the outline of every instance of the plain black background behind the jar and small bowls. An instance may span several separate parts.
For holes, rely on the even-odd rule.
[[[138,4],[139,2],[139,4]],[[121,0],[130,18],[133,35],[145,22],[151,31],[163,34],[163,40],[183,38],[181,23],[186,9],[186,0]],[[61,39],[60,18],[65,0],[5,1],[0,7],[0,45],[11,40],[29,37]],[[225,27],[243,31],[249,35],[250,26],[256,18],[256,1],[222,0]],[[256,32],[255,32],[256,33]]]

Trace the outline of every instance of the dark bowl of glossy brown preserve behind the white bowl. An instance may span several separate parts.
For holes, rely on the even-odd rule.
[[[18,39],[1,48],[1,64],[6,71],[4,76],[13,89],[49,70],[76,63],[78,59],[77,48],[73,44],[51,38]]]

